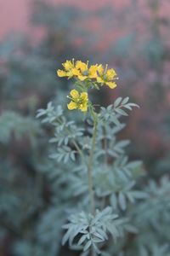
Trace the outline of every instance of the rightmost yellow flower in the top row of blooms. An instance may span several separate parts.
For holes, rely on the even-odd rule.
[[[108,85],[111,89],[114,89],[116,87],[116,83],[113,82],[114,79],[116,79],[116,72],[113,68],[107,70],[108,65],[105,66],[105,71],[104,67],[100,64],[98,67],[98,73],[99,76],[97,77],[97,82],[99,84],[106,84]]]

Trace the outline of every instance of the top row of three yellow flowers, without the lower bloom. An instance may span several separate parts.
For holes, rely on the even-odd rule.
[[[59,77],[77,77],[79,80],[84,81],[86,79],[96,79],[97,83],[103,85],[108,85],[111,89],[116,87],[116,83],[113,81],[116,79],[116,72],[113,68],[107,69],[108,65],[106,65],[105,69],[102,64],[96,64],[88,67],[87,63],[82,61],[74,62],[72,61],[65,61],[62,64],[64,70],[58,70]]]

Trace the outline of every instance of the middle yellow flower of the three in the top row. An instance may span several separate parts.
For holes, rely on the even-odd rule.
[[[85,79],[96,79],[97,78],[97,70],[98,65],[92,65],[88,68],[88,61],[87,63],[84,63],[82,61],[77,61],[76,68],[80,70],[80,74],[77,75],[78,79],[81,81]]]

